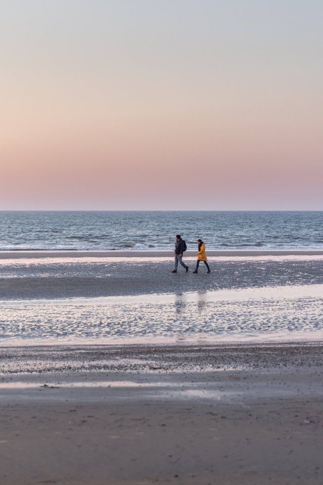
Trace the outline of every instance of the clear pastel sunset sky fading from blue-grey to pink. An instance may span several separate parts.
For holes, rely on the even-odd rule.
[[[321,0],[0,0],[0,210],[323,210]]]

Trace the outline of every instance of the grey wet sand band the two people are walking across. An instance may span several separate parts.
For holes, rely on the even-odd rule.
[[[30,256],[30,255],[29,255]],[[193,274],[172,274],[172,258],[18,258],[0,260],[0,300],[205,292],[221,288],[322,284],[323,256],[210,257]]]

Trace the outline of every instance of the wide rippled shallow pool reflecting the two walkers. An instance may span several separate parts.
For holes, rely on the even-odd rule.
[[[11,339],[216,338],[315,340],[323,336],[323,284],[127,297],[1,303],[0,336]]]

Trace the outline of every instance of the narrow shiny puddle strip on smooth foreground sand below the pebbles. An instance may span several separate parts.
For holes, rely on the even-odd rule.
[[[268,375],[268,374],[266,374]],[[273,374],[270,373],[271,376]],[[299,391],[300,384],[297,383],[294,386],[290,386],[286,389],[284,382],[275,381],[275,385],[271,385],[270,389],[266,382],[259,382],[259,379],[255,382],[249,382],[247,389],[244,389],[243,378],[238,381],[226,381],[220,379],[219,381],[206,381],[201,380],[193,381],[170,381],[170,380],[149,380],[146,382],[138,382],[135,380],[77,380],[73,378],[68,381],[48,381],[46,380],[32,380],[30,375],[26,376],[26,380],[22,381],[2,381],[0,382],[0,399],[4,396],[12,395],[25,396],[31,400],[38,400],[48,398],[58,399],[65,401],[66,397],[73,398],[73,390],[77,392],[77,396],[80,393],[83,395],[83,399],[86,400],[100,400],[100,399],[129,399],[129,393],[131,392],[132,398],[137,400],[145,400],[147,398],[153,400],[212,400],[222,401],[227,404],[240,402],[241,405],[245,405],[243,401],[245,397],[251,395],[256,397],[259,392],[262,396],[276,396],[293,395],[295,389]],[[276,379],[277,380],[277,379]],[[304,387],[304,386],[302,386]],[[39,393],[42,391],[42,393]],[[304,392],[304,389],[302,389]],[[84,394],[83,394],[84,393]]]

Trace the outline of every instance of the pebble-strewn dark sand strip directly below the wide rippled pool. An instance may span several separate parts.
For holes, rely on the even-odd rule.
[[[322,367],[322,343],[2,344],[0,375],[50,372],[177,373]],[[220,375],[220,374],[219,374]],[[323,385],[323,383],[322,383]]]

